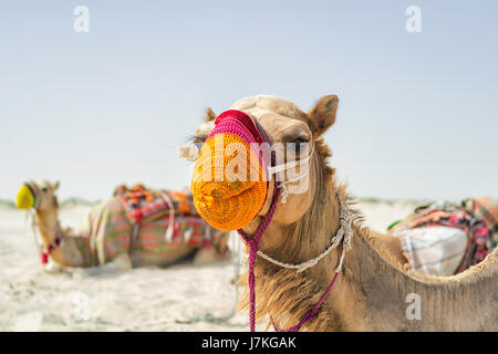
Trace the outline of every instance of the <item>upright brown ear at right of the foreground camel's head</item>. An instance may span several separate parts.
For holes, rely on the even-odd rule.
[[[321,97],[314,107],[308,112],[310,128],[314,139],[318,139],[335,123],[338,105],[339,97],[336,95],[328,95]]]

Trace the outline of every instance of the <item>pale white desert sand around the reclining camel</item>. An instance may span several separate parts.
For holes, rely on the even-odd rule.
[[[367,225],[378,231],[413,208],[408,202],[360,204]],[[64,207],[61,223],[77,229],[89,211],[77,204]],[[230,316],[236,264],[183,262],[97,277],[46,273],[24,212],[0,205],[0,331],[248,331],[246,312]],[[210,316],[229,319],[196,321]]]

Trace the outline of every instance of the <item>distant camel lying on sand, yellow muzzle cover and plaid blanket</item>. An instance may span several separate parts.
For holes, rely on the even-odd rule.
[[[22,192],[20,191],[24,201],[19,201],[18,197],[18,207],[24,204],[21,208],[34,209],[34,225],[42,242],[42,263],[51,266],[45,268],[48,271],[58,269],[52,262],[48,262],[49,258],[62,268],[73,268],[73,271],[84,274],[100,274],[132,267],[164,267],[188,256],[194,256],[195,264],[215,262],[228,256],[229,232],[212,229],[198,216],[176,218],[176,226],[181,223],[180,227],[184,227],[176,233],[181,233],[189,227],[197,236],[200,235],[200,238],[205,232],[209,232],[211,242],[207,244],[211,247],[204,247],[205,240],[196,244],[178,238],[173,239],[176,243],[166,240],[169,220],[168,216],[164,215],[142,221],[138,235],[133,240],[133,223],[116,196],[95,207],[81,231],[63,229],[59,222],[59,202],[55,196],[58,187],[59,183],[30,181],[22,187]],[[30,199],[28,204],[27,198]]]

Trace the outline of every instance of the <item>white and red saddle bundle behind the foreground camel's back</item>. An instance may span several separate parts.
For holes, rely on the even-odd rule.
[[[453,204],[417,208],[390,228],[400,238],[412,270],[452,275],[483,261],[491,230],[486,222]]]

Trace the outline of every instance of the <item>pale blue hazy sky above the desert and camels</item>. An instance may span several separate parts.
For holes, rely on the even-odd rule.
[[[187,186],[176,146],[204,110],[260,93],[340,96],[326,142],[355,195],[498,197],[497,44],[491,1],[2,1],[0,198]]]

